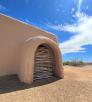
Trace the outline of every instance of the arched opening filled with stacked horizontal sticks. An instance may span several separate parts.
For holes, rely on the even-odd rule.
[[[34,80],[53,77],[54,68],[53,50],[47,44],[38,46],[35,53]]]

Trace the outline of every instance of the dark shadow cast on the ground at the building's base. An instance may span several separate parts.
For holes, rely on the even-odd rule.
[[[60,78],[51,77],[34,81],[31,85],[20,82],[17,75],[0,77],[0,94],[9,93],[17,90],[24,90],[37,86],[42,86],[59,80]]]

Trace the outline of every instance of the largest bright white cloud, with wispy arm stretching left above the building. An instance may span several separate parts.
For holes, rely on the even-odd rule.
[[[86,48],[83,46],[92,45],[92,16],[76,13],[76,17],[78,21],[72,25],[50,25],[55,30],[74,33],[69,40],[59,44],[63,54],[84,52]]]

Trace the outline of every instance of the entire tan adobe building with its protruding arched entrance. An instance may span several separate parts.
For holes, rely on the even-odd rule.
[[[17,74],[21,82],[63,78],[56,36],[0,14],[0,76]]]

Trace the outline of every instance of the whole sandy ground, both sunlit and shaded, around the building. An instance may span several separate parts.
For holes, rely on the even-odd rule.
[[[92,102],[92,65],[64,66],[64,75],[32,85],[16,75],[0,77],[0,102]]]

